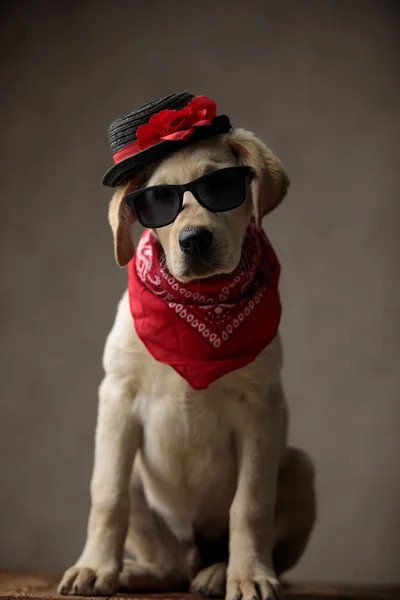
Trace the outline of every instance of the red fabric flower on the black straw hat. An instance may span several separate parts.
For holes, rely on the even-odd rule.
[[[185,108],[162,110],[137,130],[141,150],[146,150],[164,140],[186,140],[195,127],[210,125],[217,115],[217,105],[207,96],[196,96]]]

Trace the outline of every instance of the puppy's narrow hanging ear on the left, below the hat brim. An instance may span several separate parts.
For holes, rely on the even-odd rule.
[[[141,187],[141,178],[137,176],[129,183],[117,188],[108,209],[108,221],[114,236],[115,260],[120,267],[125,267],[135,252],[132,226],[136,222],[136,218],[125,203],[125,196],[139,187]]]

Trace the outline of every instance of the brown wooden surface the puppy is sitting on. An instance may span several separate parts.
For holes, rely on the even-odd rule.
[[[60,575],[54,573],[0,572],[0,600],[5,598],[63,599],[57,594]],[[289,600],[400,600],[400,587],[357,587],[340,585],[285,584],[285,596]],[[196,594],[117,594],[126,600],[201,600]],[[87,598],[87,596],[72,596]]]

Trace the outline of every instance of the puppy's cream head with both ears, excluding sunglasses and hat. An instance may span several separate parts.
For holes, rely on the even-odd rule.
[[[177,151],[150,173],[136,175],[117,189],[109,209],[117,263],[127,265],[134,253],[135,217],[125,203],[128,193],[143,186],[181,185],[208,172],[238,165],[250,166],[254,171],[243,204],[227,212],[213,213],[203,208],[191,192],[185,192],[183,209],[175,221],[154,230],[167,267],[176,279],[190,281],[232,272],[239,264],[251,216],[261,227],[263,216],[280,204],[289,186],[280,160],[243,129]]]

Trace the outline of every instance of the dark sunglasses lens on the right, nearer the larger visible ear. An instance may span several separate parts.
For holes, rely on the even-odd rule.
[[[248,175],[246,169],[237,167],[207,175],[197,183],[201,202],[212,212],[224,212],[240,206],[246,197]]]

